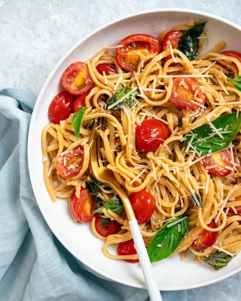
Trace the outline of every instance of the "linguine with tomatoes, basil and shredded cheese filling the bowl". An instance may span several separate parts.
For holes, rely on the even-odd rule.
[[[89,169],[93,130],[151,262],[189,249],[219,269],[241,249],[241,54],[224,41],[204,53],[206,23],[133,34],[72,63],[50,103],[45,186],[75,222],[92,223],[110,258],[138,262],[120,198]]]

